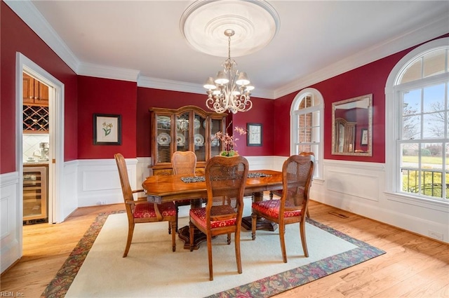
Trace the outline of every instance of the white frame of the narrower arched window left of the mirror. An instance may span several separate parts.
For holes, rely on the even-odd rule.
[[[318,101],[319,104],[314,105],[313,107],[308,107],[306,109],[299,109],[300,104],[304,97],[310,95],[314,98],[314,101]],[[300,114],[308,114],[314,111],[319,111],[319,144],[318,150],[319,154],[315,156],[315,172],[314,172],[314,180],[323,180],[323,133],[324,133],[324,100],[323,95],[316,90],[315,88],[305,88],[298,93],[290,107],[290,155],[298,154],[296,151],[296,145],[298,144],[297,133],[295,132],[297,128],[298,115]]]

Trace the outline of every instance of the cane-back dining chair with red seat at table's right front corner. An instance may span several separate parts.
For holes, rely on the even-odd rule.
[[[286,224],[300,223],[300,237],[305,257],[307,251],[305,219],[309,203],[309,189],[314,175],[314,154],[304,153],[287,158],[282,165],[282,196],[280,199],[265,200],[252,204],[252,236],[255,240],[257,216],[279,224],[279,239],[283,262],[287,262],[285,231]]]

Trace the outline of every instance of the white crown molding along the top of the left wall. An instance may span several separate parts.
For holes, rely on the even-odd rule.
[[[29,0],[3,0],[75,73],[79,60]]]

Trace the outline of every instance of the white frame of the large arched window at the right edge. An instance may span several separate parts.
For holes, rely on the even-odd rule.
[[[400,121],[398,121],[399,102],[401,102],[401,91],[410,86],[422,86],[422,83],[431,84],[449,79],[449,74],[440,74],[421,79],[417,82],[403,83],[398,85],[404,71],[415,61],[417,57],[425,55],[438,48],[447,48],[449,38],[436,39],[424,43],[405,55],[391,70],[385,85],[385,191],[398,201],[404,203],[432,203],[436,205],[448,205],[448,202],[432,199],[425,196],[413,196],[402,191],[401,179],[398,175],[400,169],[400,158],[398,152],[398,140],[400,137]]]

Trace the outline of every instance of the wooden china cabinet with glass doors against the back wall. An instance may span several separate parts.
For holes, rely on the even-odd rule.
[[[223,144],[214,140],[225,130],[226,115],[209,113],[199,107],[151,108],[153,175],[172,175],[171,156],[175,151],[194,151],[196,173],[202,174],[211,156],[220,154]]]

